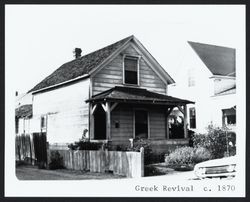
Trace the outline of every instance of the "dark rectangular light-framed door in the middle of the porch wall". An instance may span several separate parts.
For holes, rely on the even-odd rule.
[[[148,112],[135,110],[135,138],[148,138]]]

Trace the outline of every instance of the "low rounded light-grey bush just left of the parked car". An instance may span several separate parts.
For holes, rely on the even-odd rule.
[[[186,169],[187,167],[192,168],[196,163],[209,160],[210,158],[211,154],[206,148],[179,147],[165,157],[165,162],[175,169],[182,166],[185,166]]]

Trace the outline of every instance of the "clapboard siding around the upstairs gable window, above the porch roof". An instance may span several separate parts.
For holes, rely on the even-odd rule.
[[[123,85],[123,54],[141,56],[139,64],[139,85],[141,88],[166,94],[166,84],[145,62],[142,53],[138,53],[132,46],[129,46],[122,54],[119,54],[114,60],[94,75],[92,78],[92,95],[101,93],[116,85]]]

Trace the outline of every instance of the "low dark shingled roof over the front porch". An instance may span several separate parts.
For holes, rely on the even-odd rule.
[[[86,100],[87,103],[98,103],[105,101],[161,105],[183,105],[194,103],[189,100],[183,100],[164,94],[154,93],[144,88],[123,86],[115,86]]]

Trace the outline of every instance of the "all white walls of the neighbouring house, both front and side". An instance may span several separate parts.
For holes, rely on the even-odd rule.
[[[189,108],[196,109],[196,132],[206,132],[206,127],[213,123],[222,126],[222,109],[236,105],[235,94],[226,96],[216,96],[214,93],[235,85],[234,78],[221,78],[220,81],[210,78],[213,74],[201,61],[194,50],[187,46],[183,50],[184,56],[179,67],[179,74],[174,77],[176,84],[169,86],[169,95],[194,101],[194,105]],[[195,86],[188,87],[188,69],[194,69]]]

